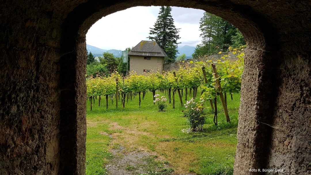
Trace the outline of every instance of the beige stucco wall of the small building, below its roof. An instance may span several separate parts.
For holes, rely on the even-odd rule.
[[[157,71],[162,73],[164,57],[152,57],[150,60],[144,59],[144,56],[130,55],[130,71],[142,74],[144,69],[150,70],[150,72],[156,73]]]

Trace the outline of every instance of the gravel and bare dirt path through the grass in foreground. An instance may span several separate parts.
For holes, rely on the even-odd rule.
[[[120,136],[125,136],[127,137],[127,139],[135,142],[136,139],[133,138],[134,135],[149,135],[149,133],[125,129],[122,126],[118,125],[116,122],[110,124],[111,130],[122,130],[123,132],[122,134],[113,133],[109,135],[110,137],[112,137],[112,143],[117,143],[120,145],[118,145],[117,147],[113,147],[109,151],[113,154],[114,158],[110,159],[109,163],[107,163],[105,167],[107,168],[108,175],[194,175],[174,173],[174,169],[168,161],[158,157],[152,152],[148,152],[139,148],[127,150],[125,147],[122,146],[123,143],[120,143]]]

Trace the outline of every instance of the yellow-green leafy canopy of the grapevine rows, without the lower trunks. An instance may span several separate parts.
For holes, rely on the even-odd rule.
[[[229,47],[235,59],[229,59],[228,55],[223,55],[219,60],[207,60],[206,62],[190,61],[189,64],[180,66],[178,70],[160,73],[143,73],[137,75],[130,73],[128,77],[122,78],[118,72],[110,76],[87,76],[87,96],[111,95],[116,90],[116,78],[118,78],[119,91],[127,92],[146,92],[159,89],[185,89],[201,87],[201,103],[206,100],[214,99],[216,96],[216,78],[211,68],[211,64],[217,66],[220,85],[223,92],[239,93],[242,82],[242,72],[244,70],[244,53]],[[89,66],[91,67],[91,65]],[[202,67],[205,68],[207,83],[203,79]],[[174,73],[176,78],[174,77]],[[177,80],[177,82],[175,81]],[[202,106],[202,105],[201,105]]]

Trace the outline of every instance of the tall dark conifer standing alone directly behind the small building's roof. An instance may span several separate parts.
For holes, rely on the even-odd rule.
[[[167,54],[165,58],[165,63],[172,63],[176,59],[176,54],[178,53],[177,45],[179,44],[177,40],[180,39],[177,29],[174,25],[174,19],[171,15],[172,7],[161,6],[159,16],[154,25],[154,28],[150,28],[150,40],[155,40],[159,46]]]

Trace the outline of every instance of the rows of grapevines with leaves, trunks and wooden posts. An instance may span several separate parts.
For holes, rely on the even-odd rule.
[[[118,101],[121,100],[122,106],[125,108],[125,101],[128,102],[128,100],[138,96],[139,104],[137,106],[140,107],[146,92],[151,91],[154,96],[156,90],[167,95],[168,102],[173,103],[173,108],[175,108],[174,96],[178,93],[181,106],[190,100],[191,95],[194,98],[199,97],[197,100],[203,105],[205,102],[209,102],[211,109],[214,110],[217,109],[215,107],[217,105],[216,97],[219,95],[227,122],[230,122],[229,115],[226,113],[227,93],[231,95],[231,98],[233,93],[239,93],[244,69],[244,53],[237,49],[230,49],[230,52],[235,58],[224,55],[219,60],[212,59],[195,63],[190,61],[189,64],[180,66],[178,70],[163,74],[145,73],[137,75],[132,72],[127,77],[121,77],[118,72],[114,72],[108,77],[87,77],[87,97],[91,101],[91,110],[92,106],[95,105],[92,104],[92,101],[95,103],[94,99],[97,97],[99,97],[99,106],[101,105],[101,98],[105,97],[105,104],[108,109],[109,101],[111,104],[115,102],[118,108]],[[198,88],[201,91],[199,92],[200,96],[197,95]],[[215,125],[217,125],[216,115],[217,111],[215,111]]]

